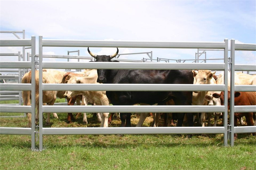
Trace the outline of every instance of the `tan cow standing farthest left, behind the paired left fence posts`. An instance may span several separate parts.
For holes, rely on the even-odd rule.
[[[38,123],[39,118],[39,72],[36,70],[36,124]],[[31,71],[26,73],[21,80],[21,83],[31,83]],[[43,83],[56,83],[54,77],[51,74],[48,74],[43,71]],[[53,105],[56,100],[56,91],[43,91],[43,103],[48,105]],[[31,94],[30,91],[22,91],[22,99],[24,106],[30,106]],[[27,113],[28,116],[28,128],[31,128],[31,113]],[[46,125],[50,125],[50,113],[47,114]]]

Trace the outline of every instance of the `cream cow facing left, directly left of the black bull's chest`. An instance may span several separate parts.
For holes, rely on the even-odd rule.
[[[87,77],[71,77],[68,80],[68,84],[98,84],[98,76]],[[84,95],[91,103],[96,105],[109,105],[109,100],[106,96],[106,91],[66,91],[65,98],[72,96]],[[108,115],[109,113],[100,113],[101,125],[100,127],[108,127]]]

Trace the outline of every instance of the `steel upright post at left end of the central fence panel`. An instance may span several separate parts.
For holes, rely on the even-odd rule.
[[[43,70],[42,70],[42,62],[43,62],[43,44],[42,44],[43,36],[39,36],[39,150],[43,150],[43,91],[42,91],[42,83],[43,83]]]

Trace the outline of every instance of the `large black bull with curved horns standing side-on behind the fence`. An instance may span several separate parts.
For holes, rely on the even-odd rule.
[[[118,54],[94,55],[88,47],[88,52],[96,59],[95,62],[111,61]],[[193,84],[194,77],[191,70],[104,70],[98,69],[99,83],[107,84]],[[163,105],[168,100],[173,100],[175,105],[192,105],[192,92],[185,91],[107,91],[106,95],[113,105],[134,105],[145,103],[149,105]],[[185,113],[174,115],[181,127]],[[193,113],[187,113],[188,125],[193,126]],[[131,127],[131,113],[120,113],[121,127]]]

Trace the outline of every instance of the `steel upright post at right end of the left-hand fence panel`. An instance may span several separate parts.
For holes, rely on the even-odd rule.
[[[36,114],[36,76],[35,76],[35,54],[36,54],[36,37],[31,37],[31,149],[36,148],[35,141],[35,114]],[[25,56],[24,56],[25,57]]]

